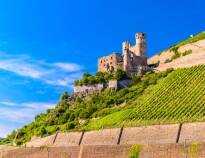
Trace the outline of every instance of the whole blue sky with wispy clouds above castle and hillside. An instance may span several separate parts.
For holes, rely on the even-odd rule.
[[[54,107],[97,59],[147,33],[148,56],[204,31],[203,0],[0,0],[0,137]]]

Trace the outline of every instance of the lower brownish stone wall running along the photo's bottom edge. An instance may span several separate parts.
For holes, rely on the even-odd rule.
[[[81,147],[19,148],[0,150],[0,158],[128,158],[131,145],[86,145]],[[139,158],[205,157],[205,144],[140,145]]]

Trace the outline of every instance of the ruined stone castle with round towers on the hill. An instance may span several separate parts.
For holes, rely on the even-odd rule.
[[[122,43],[122,54],[113,52],[101,57],[98,60],[98,72],[113,73],[117,69],[122,69],[128,77],[141,74],[143,67],[147,66],[146,34],[136,33],[135,39],[135,45],[131,45],[128,41]]]

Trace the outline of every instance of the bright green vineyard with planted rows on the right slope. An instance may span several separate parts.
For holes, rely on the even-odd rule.
[[[85,129],[205,120],[205,66],[177,69],[119,112],[91,121]]]

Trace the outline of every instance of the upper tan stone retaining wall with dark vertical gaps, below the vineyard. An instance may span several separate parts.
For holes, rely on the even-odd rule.
[[[33,139],[27,147],[69,147],[79,145],[127,145],[205,143],[205,122],[102,129],[88,132],[58,133]]]

